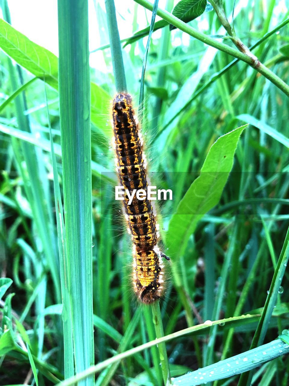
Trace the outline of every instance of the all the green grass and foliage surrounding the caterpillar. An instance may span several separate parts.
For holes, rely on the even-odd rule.
[[[99,32],[115,32],[112,55],[108,40],[95,47],[101,73],[88,66],[86,1],[59,1],[59,59],[16,31],[1,1],[0,384],[159,386],[170,374],[287,386],[289,10],[237,1],[226,32],[222,12],[187,24],[168,0],[165,21],[153,27],[147,10],[143,29],[153,3],[115,3],[136,34],[120,30],[121,48],[113,2],[109,23],[96,2]],[[230,20],[234,1],[223,6]],[[158,209],[171,261],[152,309],[134,299],[114,200],[110,103],[125,89],[136,111],[144,103],[151,179],[174,194]]]

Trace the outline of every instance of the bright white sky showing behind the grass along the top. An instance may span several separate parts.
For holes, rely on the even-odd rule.
[[[150,0],[153,2],[153,0]],[[280,12],[285,12],[287,0],[277,0],[274,13],[277,15]],[[239,0],[239,5],[244,6],[248,0]],[[99,34],[99,28],[97,25],[97,13],[95,9],[95,3],[99,4],[102,9],[105,9],[104,0],[89,0],[89,50],[92,51],[103,44],[108,44],[108,37],[102,40]],[[159,7],[165,8],[166,0],[159,1]],[[175,0],[175,4],[178,0]],[[232,1],[233,3],[233,1]],[[244,3],[244,4],[242,4]],[[266,3],[266,2],[263,2]],[[118,19],[118,28],[120,38],[124,39],[133,34],[133,14],[135,2],[133,0],[116,0],[116,11]],[[22,32],[29,37],[30,40],[43,46],[55,55],[58,56],[58,27],[57,27],[57,0],[8,0],[8,5],[11,14],[12,25],[15,29]],[[0,14],[0,16],[2,16]],[[142,29],[148,25],[147,20],[150,21],[151,12],[144,10],[143,7],[138,5],[138,24],[139,29]],[[156,18],[158,20],[160,18]],[[275,19],[275,20],[274,20]],[[197,19],[198,29],[204,31],[208,28],[207,17],[200,17]],[[277,24],[277,18],[273,17],[271,22],[271,28]],[[101,31],[102,32],[102,31]],[[183,33],[182,39],[180,37],[175,39],[175,31],[172,32],[173,46],[180,44],[188,45],[190,37]],[[106,34],[106,31],[103,31]],[[154,33],[154,38],[160,36],[161,30]],[[180,35],[178,35],[180,36]],[[90,56],[90,65],[99,71],[106,72],[106,65],[103,60],[102,52],[98,51],[92,53]]]

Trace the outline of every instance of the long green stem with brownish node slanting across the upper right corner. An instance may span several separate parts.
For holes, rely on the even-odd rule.
[[[134,0],[134,1],[142,5],[144,8],[147,8],[149,10],[153,9],[153,4],[151,4],[147,0]],[[287,95],[287,97],[289,97],[289,86],[286,85],[286,83],[282,81],[282,79],[280,79],[279,76],[277,76],[267,67],[265,67],[264,64],[260,63],[260,61],[257,58],[256,60],[254,57],[249,56],[248,54],[244,54],[243,52],[240,52],[237,49],[227,46],[222,42],[216,41],[212,37],[207,36],[202,32],[199,32],[193,27],[190,27],[190,25],[181,21],[180,19],[170,14],[169,12],[162,10],[161,8],[158,8],[157,15],[162,17],[170,24],[173,24],[176,28],[180,29],[181,31],[187,32],[187,34],[189,34],[192,37],[195,37],[201,42],[208,44],[209,46],[215,47],[218,50],[223,51],[226,54],[234,56],[235,58],[240,59],[243,62],[249,64],[252,68],[258,71],[260,74],[264,75],[265,78],[267,78],[274,85],[276,85],[285,95]]]

